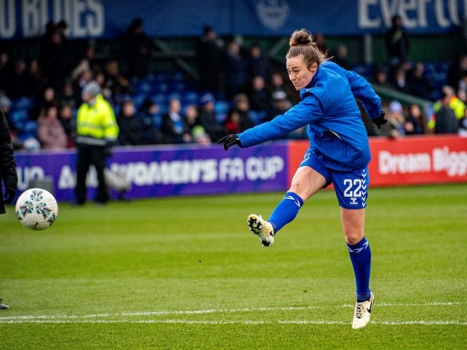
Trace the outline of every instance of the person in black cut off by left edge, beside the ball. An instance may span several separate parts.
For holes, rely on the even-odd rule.
[[[0,113],[0,214],[5,214],[5,204],[13,202],[17,185],[18,175],[10,130],[8,130],[4,113]],[[1,309],[8,309],[8,306],[0,299]]]

